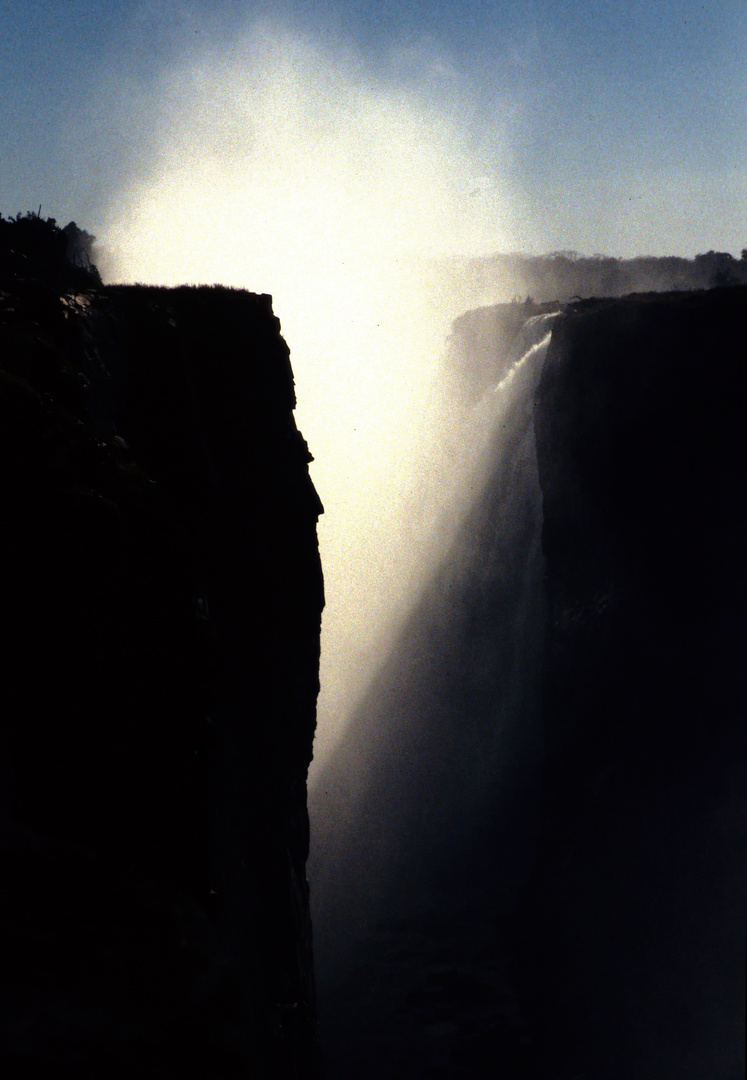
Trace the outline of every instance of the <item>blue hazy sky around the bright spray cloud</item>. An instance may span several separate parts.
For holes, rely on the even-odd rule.
[[[331,97],[340,57],[348,84],[413,94],[459,127],[475,206],[498,186],[512,218],[472,246],[747,243],[744,0],[1,0],[0,212],[41,204],[106,233],[167,135],[172,72],[219,65],[258,24],[322,50]]]

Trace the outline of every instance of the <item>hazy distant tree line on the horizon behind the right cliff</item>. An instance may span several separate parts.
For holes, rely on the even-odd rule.
[[[516,299],[566,301],[574,296],[625,296],[747,284],[747,248],[736,259],[729,252],[679,256],[492,255],[471,260],[467,274]]]

